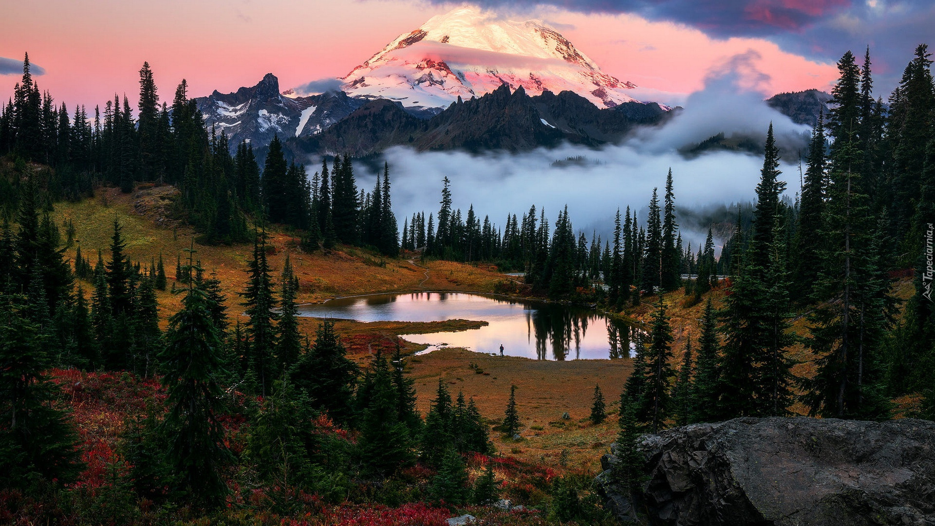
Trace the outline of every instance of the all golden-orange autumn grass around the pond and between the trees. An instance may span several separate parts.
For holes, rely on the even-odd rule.
[[[246,281],[246,262],[252,256],[252,244],[233,246],[202,246],[194,242],[195,233],[187,226],[167,220],[165,208],[159,203],[158,193],[137,192],[124,195],[116,189],[98,192],[93,199],[79,203],[59,203],[54,214],[60,225],[70,220],[75,226],[75,243],[66,252],[74,259],[80,245],[83,256],[94,263],[97,251],[108,257],[110,236],[116,218],[122,225],[126,253],[131,260],[149,266],[152,259],[163,256],[166,275],[173,281],[177,257],[184,249],[194,246],[195,257],[202,267],[221,280],[227,293],[228,312],[242,314],[237,292]],[[343,247],[328,255],[321,252],[304,254],[298,249],[298,239],[289,232],[269,232],[272,250],[269,263],[279,274],[287,255],[295,267],[300,282],[301,302],[320,302],[331,298],[417,290],[454,290],[490,293],[509,278],[496,268],[473,266],[448,261],[421,262],[418,256],[386,259],[365,249]],[[90,294],[90,284],[84,284]],[[900,298],[912,293],[912,284],[903,280],[895,285]],[[714,307],[721,307],[726,285],[715,287],[710,293]],[[707,300],[707,298],[705,298]],[[179,308],[179,297],[170,291],[159,293],[161,317],[164,320]],[[674,365],[681,362],[685,341],[690,337],[697,342],[705,301],[694,303],[682,291],[664,296],[669,306]],[[646,324],[654,310],[654,299],[644,300],[627,311],[637,324]],[[319,321],[301,318],[300,327],[313,337]],[[364,366],[377,350],[392,352],[399,334],[441,332],[475,329],[483,320],[446,320],[442,322],[373,322],[363,323],[339,320],[336,325],[349,355]],[[793,328],[799,335],[807,334],[806,316],[796,318]],[[496,424],[503,417],[510,387],[517,387],[517,404],[522,431],[518,441],[499,433],[492,433],[496,450],[511,458],[534,462],[561,472],[574,469],[596,473],[601,454],[616,435],[616,402],[631,372],[627,359],[538,361],[528,358],[498,357],[474,353],[464,349],[448,348],[425,355],[414,356],[424,346],[401,341],[406,354],[413,355],[410,373],[415,379],[419,409],[424,413],[434,397],[439,379],[453,396],[459,391],[473,397],[482,416]],[[802,343],[794,345],[790,354],[798,361],[795,373],[813,374],[813,356]],[[610,414],[601,425],[587,419],[590,413],[595,385],[604,393]],[[910,406],[913,400],[897,401]],[[803,407],[794,407],[799,413]],[[567,414],[567,417],[563,417]]]

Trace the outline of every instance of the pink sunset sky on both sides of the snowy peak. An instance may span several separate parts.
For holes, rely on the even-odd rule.
[[[753,4],[776,1],[802,4],[796,7],[802,12],[817,8],[800,0]],[[868,4],[877,1],[884,2]],[[4,8],[0,57],[22,60],[28,51],[31,61],[45,70],[36,77],[40,88],[69,108],[76,103],[93,108],[115,92],[135,102],[143,61],[149,61],[164,100],[171,100],[183,78],[190,96],[252,86],[266,73],[275,74],[285,90],[342,76],[398,35],[453,7],[457,5],[380,0],[34,0]],[[663,102],[680,102],[730,57],[750,50],[758,58],[748,88],[763,95],[827,90],[837,76],[835,58],[846,51],[827,56],[788,51],[796,46],[783,42],[794,39],[795,28],[784,27],[785,40],[730,37],[696,28],[706,27],[703,23],[643,18],[632,9],[586,11],[534,6],[504,16],[544,20],[605,72],[638,84],[643,99]],[[766,15],[757,11],[757,16]],[[866,40],[870,38],[861,39],[864,45]],[[911,52],[905,50],[906,61]],[[9,61],[0,73],[6,73],[0,74],[0,97],[6,100],[19,73],[10,69]]]

